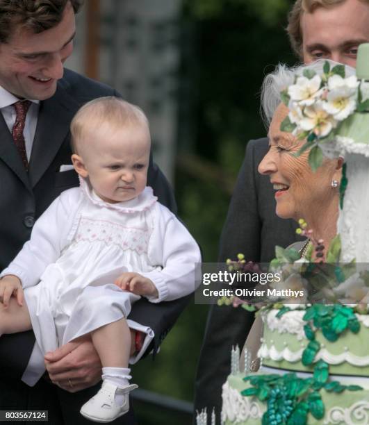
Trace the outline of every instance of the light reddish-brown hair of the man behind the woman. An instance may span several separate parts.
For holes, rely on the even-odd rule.
[[[311,13],[315,8],[329,8],[340,3],[344,3],[346,0],[297,0],[293,5],[293,8],[288,14],[288,38],[293,51],[297,53],[297,56],[302,58],[302,31],[301,31],[301,17],[305,12]],[[363,3],[369,3],[369,0],[359,0]]]

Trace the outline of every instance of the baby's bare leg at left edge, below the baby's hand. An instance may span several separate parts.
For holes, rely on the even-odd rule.
[[[0,302],[0,335],[29,331],[32,328],[26,301],[19,306],[17,299],[11,297],[7,308]]]

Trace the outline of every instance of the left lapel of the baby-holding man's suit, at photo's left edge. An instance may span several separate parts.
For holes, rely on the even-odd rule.
[[[26,185],[26,187],[31,190],[31,186],[28,180],[28,175],[26,169],[24,169],[24,165],[22,163],[22,159],[19,156],[17,151],[17,147],[15,147],[15,143],[13,137],[9,131],[8,126],[6,125],[5,119],[3,119],[3,114],[0,113],[0,158],[3,160],[10,169],[17,174],[20,180]]]

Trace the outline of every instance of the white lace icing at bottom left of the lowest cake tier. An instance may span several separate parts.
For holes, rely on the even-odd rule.
[[[240,391],[235,390],[228,382],[222,387],[222,422],[227,420],[238,424],[247,419],[261,419],[265,412],[265,407],[252,401],[250,397],[243,397]]]

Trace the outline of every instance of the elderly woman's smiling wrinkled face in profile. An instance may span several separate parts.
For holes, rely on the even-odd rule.
[[[339,180],[338,160],[325,160],[316,172],[308,163],[309,151],[295,157],[305,140],[297,140],[291,133],[281,131],[281,122],[288,108],[281,103],[273,115],[269,128],[269,151],[259,165],[259,173],[267,174],[275,190],[276,213],[281,218],[311,217],[311,210],[325,209],[334,200],[337,190],[331,181]]]

